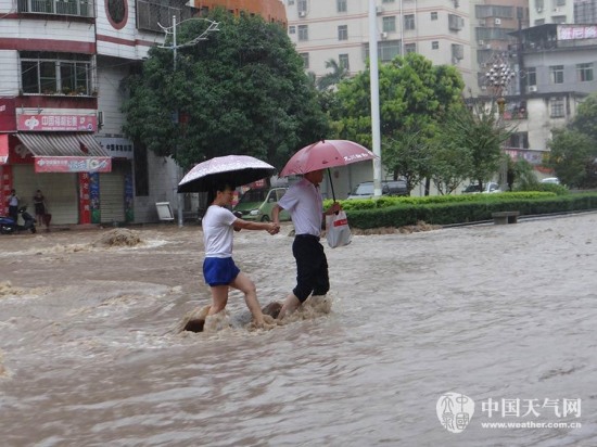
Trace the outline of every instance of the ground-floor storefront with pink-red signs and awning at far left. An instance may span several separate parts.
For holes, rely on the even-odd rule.
[[[93,183],[100,183],[99,176],[110,175],[106,201],[116,209],[118,206],[114,205],[114,197],[119,195],[119,209],[123,212],[110,212],[112,208],[106,206],[106,214],[110,221],[125,220],[126,175],[120,169],[119,174],[112,173],[112,157],[93,137],[97,130],[94,111],[27,113],[33,111],[17,111],[14,101],[11,104],[0,99],[0,111],[2,106],[5,116],[0,119],[0,204],[4,207],[1,214],[5,214],[11,189],[16,190],[21,203],[27,204],[30,212],[33,196],[39,189],[46,196],[52,224],[104,221],[101,217],[102,190],[99,189],[93,203],[91,190],[96,187]],[[11,106],[13,123],[10,123]],[[114,180],[118,176],[122,180]],[[118,181],[123,182],[123,187],[116,187],[114,196],[111,196],[113,183]],[[93,208],[100,209],[96,216],[92,216]]]

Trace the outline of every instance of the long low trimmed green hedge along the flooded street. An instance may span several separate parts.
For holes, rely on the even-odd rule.
[[[326,201],[329,205],[331,201]],[[597,193],[556,195],[550,192],[381,197],[342,201],[354,228],[403,227],[422,220],[454,225],[491,220],[492,213],[518,210],[521,216],[597,209]]]

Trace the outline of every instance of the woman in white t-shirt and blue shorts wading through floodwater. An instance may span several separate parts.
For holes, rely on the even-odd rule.
[[[244,293],[244,301],[253,315],[255,325],[264,325],[264,316],[257,301],[255,283],[234,264],[232,242],[234,230],[265,230],[269,234],[280,231],[274,222],[253,222],[238,218],[228,209],[232,204],[234,189],[229,183],[220,183],[213,191],[214,200],[202,219],[205,259],[203,276],[212,288],[212,306],[208,315],[226,308],[228,288]]]

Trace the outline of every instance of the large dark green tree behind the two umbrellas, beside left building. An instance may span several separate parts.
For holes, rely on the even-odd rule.
[[[127,84],[124,131],[185,168],[227,154],[281,167],[298,148],[327,133],[303,61],[285,30],[261,16],[215,10],[208,18],[220,30],[179,49],[176,71],[172,50],[150,50],[142,73]],[[178,43],[206,26],[181,23]]]

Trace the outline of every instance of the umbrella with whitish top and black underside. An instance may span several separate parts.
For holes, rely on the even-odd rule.
[[[223,182],[237,188],[270,177],[275,173],[274,166],[250,155],[217,156],[189,170],[178,183],[178,192],[209,191]]]

